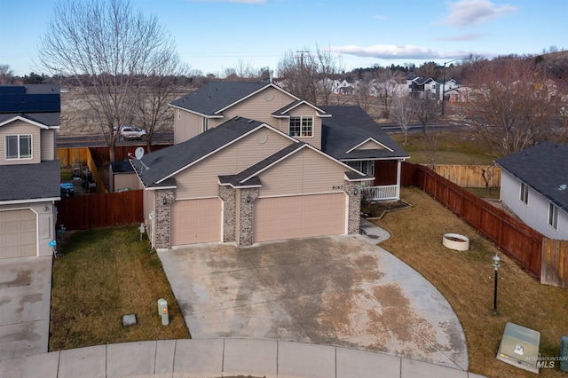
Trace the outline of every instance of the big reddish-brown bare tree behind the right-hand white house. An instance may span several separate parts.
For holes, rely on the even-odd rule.
[[[559,88],[532,59],[483,60],[469,73],[469,122],[494,154],[513,154],[551,138],[556,128]]]

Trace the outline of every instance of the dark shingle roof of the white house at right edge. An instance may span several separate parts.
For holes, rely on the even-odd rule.
[[[501,168],[568,211],[568,145],[544,142],[495,161]]]

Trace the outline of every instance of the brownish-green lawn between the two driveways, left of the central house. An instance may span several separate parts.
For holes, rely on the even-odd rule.
[[[162,263],[137,226],[75,232],[53,262],[49,350],[190,337]],[[168,301],[162,326],[157,300]],[[122,315],[138,324],[122,326]]]

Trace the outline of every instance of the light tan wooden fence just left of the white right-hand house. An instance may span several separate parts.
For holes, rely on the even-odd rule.
[[[433,167],[441,177],[455,185],[470,188],[501,186],[501,168],[494,165],[440,165]],[[484,178],[485,177],[485,178]],[[485,179],[487,182],[485,182]]]

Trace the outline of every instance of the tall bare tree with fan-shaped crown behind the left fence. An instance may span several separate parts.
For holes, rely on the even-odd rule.
[[[155,17],[132,9],[129,0],[57,5],[41,39],[40,61],[51,73],[74,76],[114,161],[120,128],[131,122],[146,75],[177,57],[175,43]]]

